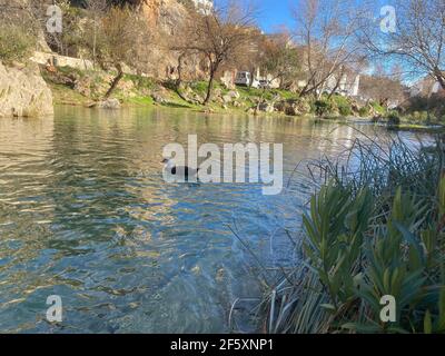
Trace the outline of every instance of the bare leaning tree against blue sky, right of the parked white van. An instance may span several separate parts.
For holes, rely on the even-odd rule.
[[[295,38],[303,47],[306,86],[300,95],[322,92],[342,68],[364,60],[358,46],[362,11],[352,0],[300,0],[294,9]]]

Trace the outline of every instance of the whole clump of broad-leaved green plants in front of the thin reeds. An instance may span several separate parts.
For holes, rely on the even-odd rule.
[[[445,192],[445,179],[438,191]],[[304,218],[305,256],[328,294],[329,303],[319,307],[333,316],[329,328],[445,332],[445,279],[437,275],[445,261],[445,235],[437,236],[445,201],[433,207],[423,225],[431,207],[402,188],[385,219],[373,217],[378,207],[373,200],[367,188],[353,195],[347,187],[328,185],[313,197],[313,212]],[[383,324],[380,298],[387,295],[396,300],[396,322]]]

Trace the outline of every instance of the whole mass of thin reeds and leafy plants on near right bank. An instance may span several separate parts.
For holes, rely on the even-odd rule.
[[[268,333],[445,333],[444,147],[355,140],[320,182],[300,260],[261,303]],[[396,322],[380,318],[383,296]]]

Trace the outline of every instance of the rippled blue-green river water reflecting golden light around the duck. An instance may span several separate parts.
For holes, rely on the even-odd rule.
[[[335,157],[359,135],[335,122],[164,109],[0,119],[0,332],[230,332],[233,303],[260,293],[258,264],[231,229],[266,268],[286,265],[286,230],[299,230],[314,187],[301,175],[278,196],[256,184],[168,185],[162,148],[188,134],[219,146],[283,142],[285,185],[298,162]],[[62,298],[60,325],[46,320],[50,295]],[[248,314],[239,305],[236,315]]]

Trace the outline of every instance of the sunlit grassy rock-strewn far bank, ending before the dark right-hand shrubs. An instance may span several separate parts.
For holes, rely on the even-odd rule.
[[[107,92],[113,72],[82,71],[68,67],[48,72],[41,68],[47,83],[51,87],[55,102],[89,106],[101,100]],[[237,87],[228,89],[214,83],[214,95],[207,106],[202,106],[207,82],[182,85],[178,90],[172,82],[160,82],[151,78],[125,75],[112,98],[123,106],[165,106],[215,112],[275,113],[288,116],[319,116],[340,118],[347,116],[370,116],[378,113],[376,103],[359,107],[352,99],[340,96],[322,98],[299,98],[297,92],[279,89],[255,89]]]

